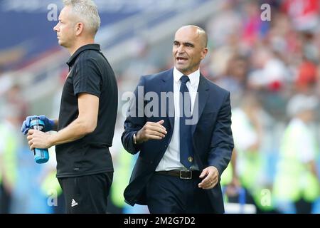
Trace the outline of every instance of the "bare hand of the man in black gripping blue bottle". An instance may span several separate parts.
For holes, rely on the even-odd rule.
[[[29,130],[27,140],[30,150],[33,150],[34,148],[43,149],[51,147],[50,137],[51,135],[43,133],[41,130]]]

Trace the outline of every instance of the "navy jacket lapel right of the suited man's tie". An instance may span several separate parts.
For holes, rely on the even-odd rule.
[[[199,81],[199,86],[198,86],[198,93],[196,96],[196,101],[194,103],[193,107],[193,118],[196,119],[196,124],[193,124],[191,127],[192,134],[196,130],[196,126],[198,123],[198,120],[200,119],[203,109],[206,106],[207,100],[208,100],[208,95],[209,95],[209,85],[208,82],[206,81],[206,78],[204,78],[200,74],[200,81]],[[198,113],[196,111],[198,110]]]

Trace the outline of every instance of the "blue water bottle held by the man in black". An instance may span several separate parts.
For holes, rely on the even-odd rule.
[[[30,120],[30,129],[41,130],[44,132],[45,124],[38,116],[31,118]],[[49,160],[48,149],[33,149],[34,160],[38,163],[45,163]]]

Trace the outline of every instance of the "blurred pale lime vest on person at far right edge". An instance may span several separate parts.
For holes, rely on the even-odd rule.
[[[302,135],[309,142],[302,142]],[[301,143],[311,143],[316,156],[316,139],[302,121],[293,121],[284,132],[284,138],[279,151],[279,162],[274,180],[274,196],[277,199],[285,199],[296,202],[304,199],[307,202],[314,201],[319,197],[319,180],[309,170],[307,164],[299,159],[302,153]]]

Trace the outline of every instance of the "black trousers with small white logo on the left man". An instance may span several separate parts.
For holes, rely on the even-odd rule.
[[[113,172],[58,178],[68,214],[105,214]]]

